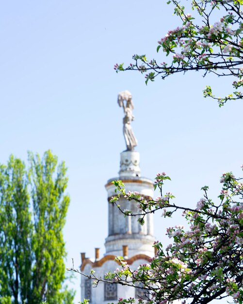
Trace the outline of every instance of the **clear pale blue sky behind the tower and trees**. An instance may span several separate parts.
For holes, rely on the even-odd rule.
[[[217,21],[217,20],[215,20]],[[113,65],[133,54],[165,61],[157,41],[179,20],[162,0],[11,0],[0,1],[0,162],[10,154],[24,160],[27,151],[50,149],[68,168],[71,203],[64,236],[66,266],[78,268],[80,253],[104,251],[108,203],[104,185],[118,176],[123,111],[117,95],[129,90],[142,176],[165,171],[165,186],[175,202],[195,206],[202,186],[216,201],[220,176],[240,176],[242,101],[219,108],[203,98],[231,92],[229,78],[199,72],[178,74],[145,84],[138,72],[115,73]],[[155,237],[167,243],[166,227],[175,216],[155,216]],[[80,301],[80,277],[73,287]]]

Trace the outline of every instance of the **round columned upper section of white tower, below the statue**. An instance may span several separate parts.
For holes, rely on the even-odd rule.
[[[106,184],[108,192],[108,201],[115,196],[115,186],[112,184],[114,180],[122,180],[126,186],[126,190],[137,191],[145,199],[153,197],[153,182],[147,178],[141,177],[139,167],[139,152],[124,151],[121,153],[119,177],[113,178]],[[127,201],[124,197],[119,200],[121,209],[131,210],[137,213],[137,203]],[[136,254],[145,254],[153,256],[154,249],[151,246],[154,242],[153,237],[153,216],[146,216],[143,226],[139,224],[136,217],[124,217],[124,214],[114,205],[109,203],[109,235],[106,238],[105,248],[106,254],[115,256],[123,255],[122,246],[129,248],[129,256]]]

